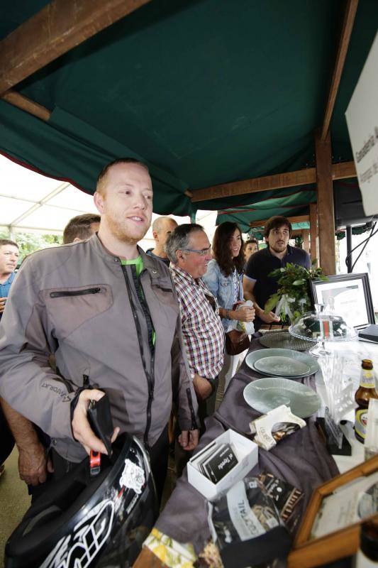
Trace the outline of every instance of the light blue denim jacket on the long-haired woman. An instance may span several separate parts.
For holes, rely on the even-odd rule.
[[[232,310],[234,304],[234,292],[233,292],[233,275],[225,276],[219,268],[216,261],[212,260],[207,265],[207,272],[202,276],[202,280],[209,288],[213,296],[218,300],[220,307],[225,310]],[[238,274],[239,280],[239,294],[238,300],[244,300],[243,297],[243,274]],[[228,320],[226,317],[222,317],[222,324],[225,332],[233,329],[235,326],[235,320]]]

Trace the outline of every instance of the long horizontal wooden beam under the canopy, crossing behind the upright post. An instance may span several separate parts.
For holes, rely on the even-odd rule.
[[[340,162],[332,165],[332,177],[334,180],[355,178],[356,169],[354,162]],[[316,182],[316,168],[305,168],[294,172],[265,175],[262,178],[251,178],[239,182],[222,183],[211,185],[201,190],[191,190],[192,202],[216,200],[221,197],[233,195],[245,195],[258,191],[280,190],[283,187],[296,187]]]

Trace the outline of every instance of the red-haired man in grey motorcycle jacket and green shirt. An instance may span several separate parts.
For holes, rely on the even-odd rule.
[[[89,401],[105,391],[113,437],[121,430],[145,442],[161,491],[172,361],[184,449],[196,446],[198,430],[174,286],[165,265],[137,246],[152,215],[148,168],[115,160],[101,171],[94,201],[98,234],[34,253],[18,273],[17,301],[0,327],[0,395],[50,435],[53,459],[67,469],[85,450],[106,453],[87,420]]]

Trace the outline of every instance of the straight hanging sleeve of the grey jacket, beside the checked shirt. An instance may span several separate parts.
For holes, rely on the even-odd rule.
[[[174,295],[177,296],[175,291]],[[174,406],[177,408],[179,427],[181,430],[196,430],[199,428],[198,404],[189,370],[187,351],[182,338],[180,314],[177,316],[171,356],[172,395]]]

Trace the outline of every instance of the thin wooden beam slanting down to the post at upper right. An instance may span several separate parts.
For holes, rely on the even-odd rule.
[[[345,6],[345,14],[343,20],[343,28],[341,30],[340,41],[338,45],[338,53],[336,55],[335,67],[333,69],[333,76],[330,82],[330,91],[328,93],[328,101],[326,104],[326,112],[323,119],[323,127],[321,129],[321,140],[324,142],[330,127],[330,119],[335,106],[336,96],[338,94],[338,87],[340,84],[341,75],[345,58],[348,51],[350,34],[352,33],[353,23],[357,11],[358,0],[348,0]]]

